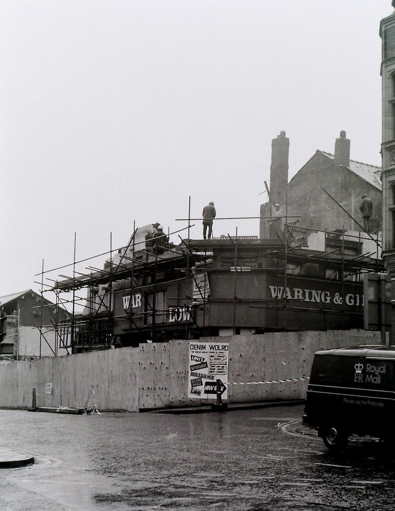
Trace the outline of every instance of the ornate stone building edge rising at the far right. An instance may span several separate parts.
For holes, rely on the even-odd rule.
[[[392,2],[395,7],[395,1]],[[395,12],[381,20],[382,39],[382,174],[383,252],[395,297]],[[395,308],[391,312],[391,344],[395,343]]]

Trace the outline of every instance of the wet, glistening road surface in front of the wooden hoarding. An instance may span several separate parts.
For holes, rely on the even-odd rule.
[[[203,414],[0,410],[1,443],[35,456],[0,471],[2,511],[395,509],[395,455],[328,453],[303,407]]]

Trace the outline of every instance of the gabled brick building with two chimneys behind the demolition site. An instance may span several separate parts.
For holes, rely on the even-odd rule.
[[[381,229],[381,167],[351,160],[350,140],[346,138],[345,131],[341,131],[335,141],[334,154],[317,150],[289,181],[288,188],[288,161],[285,161],[284,155],[288,155],[289,139],[283,133],[274,139],[276,145],[283,144],[284,148],[282,151],[278,151],[277,147],[272,150],[271,201],[262,204],[261,217],[272,215],[272,204],[278,202],[283,213],[287,214],[288,222],[297,221],[299,226],[363,231],[359,205],[362,195],[366,194],[373,201],[369,230],[373,233]],[[280,172],[282,177],[275,176],[274,172]],[[262,218],[260,238],[267,237],[268,221]]]

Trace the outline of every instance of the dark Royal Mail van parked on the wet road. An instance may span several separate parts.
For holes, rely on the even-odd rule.
[[[337,451],[352,434],[395,437],[395,346],[354,346],[314,355],[304,424]]]

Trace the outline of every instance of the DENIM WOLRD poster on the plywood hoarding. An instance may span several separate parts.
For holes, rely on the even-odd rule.
[[[220,380],[221,398],[227,399],[228,368],[228,342],[190,342],[188,397],[217,399],[217,380]]]

